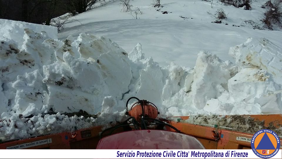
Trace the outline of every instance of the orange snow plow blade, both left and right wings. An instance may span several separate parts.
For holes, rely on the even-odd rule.
[[[189,123],[186,120],[189,116],[171,117],[165,121],[176,127],[182,133],[196,137],[207,149],[250,149],[251,138],[258,130],[251,130],[254,123],[261,124],[261,129],[278,129],[282,125],[282,115],[237,115],[223,116],[221,119],[236,118],[244,126],[249,124],[249,128],[231,128],[226,125],[209,125],[201,123]],[[205,120],[205,119],[204,119]],[[245,122],[244,122],[245,120]],[[235,120],[234,120],[235,121]],[[215,121],[216,122],[216,121]],[[169,131],[175,131],[166,127]],[[260,129],[259,129],[260,130]],[[75,132],[62,132],[50,135],[42,135],[24,140],[0,141],[0,149],[95,149],[100,138],[99,132],[102,127],[90,127],[88,129],[77,130]],[[116,129],[114,133],[123,132],[122,127]],[[251,131],[255,131],[251,133]],[[274,130],[273,130],[274,131]],[[280,129],[280,131],[282,131]],[[276,132],[281,135],[281,132]],[[281,136],[280,140],[282,140]],[[280,146],[280,149],[282,147]]]

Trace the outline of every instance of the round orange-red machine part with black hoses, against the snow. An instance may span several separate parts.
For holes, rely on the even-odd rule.
[[[137,122],[140,122],[142,118],[142,105],[140,104],[135,105],[134,107],[131,108],[131,110],[128,113],[130,116],[135,117]],[[158,115],[158,110],[150,104],[144,105],[144,114],[145,117],[156,119]]]

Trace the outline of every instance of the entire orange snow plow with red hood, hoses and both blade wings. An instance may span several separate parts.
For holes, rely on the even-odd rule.
[[[131,99],[137,102],[128,110]],[[280,114],[157,119],[157,106],[136,97],[127,100],[125,114],[127,120],[105,130],[98,126],[23,140],[0,140],[0,149],[171,149],[171,145],[174,149],[251,149],[251,139],[261,129],[275,131],[282,140]],[[145,144],[136,144],[144,139]]]

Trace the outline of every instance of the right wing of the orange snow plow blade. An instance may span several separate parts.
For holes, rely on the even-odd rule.
[[[226,119],[228,117],[230,116],[225,116]],[[249,118],[251,120],[254,120],[254,122],[262,123],[263,125],[261,125],[261,127],[265,127],[266,129],[270,130],[279,128],[282,125],[281,114],[237,115],[237,117],[239,117],[240,119]],[[180,120],[187,120],[189,119],[189,116],[178,118],[180,118]],[[171,122],[171,125],[181,130],[185,134],[196,137],[207,149],[251,149],[251,139],[254,133],[260,130],[254,130],[254,133],[247,133],[220,125],[195,125],[184,122]],[[280,140],[282,140],[282,136],[279,136],[279,138]],[[282,149],[282,146],[280,146],[280,149]]]

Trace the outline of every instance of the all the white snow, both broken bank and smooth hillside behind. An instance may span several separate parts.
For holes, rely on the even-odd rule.
[[[168,14],[132,1],[140,19],[110,2],[58,37],[54,27],[0,19],[0,139],[120,121],[132,96],[155,103],[160,117],[282,113],[282,32],[232,26],[262,25],[263,1],[250,11],[161,2]],[[227,19],[211,23],[219,8]],[[58,113],[46,114],[51,108]],[[98,116],[61,115],[80,109]]]

